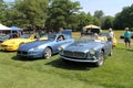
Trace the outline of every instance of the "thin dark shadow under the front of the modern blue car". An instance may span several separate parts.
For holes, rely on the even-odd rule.
[[[11,59],[21,61],[21,62],[34,62],[34,61],[44,59],[44,58],[28,58],[28,57],[13,56]]]

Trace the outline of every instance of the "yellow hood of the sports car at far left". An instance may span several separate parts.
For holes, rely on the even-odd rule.
[[[29,38],[11,38],[11,40],[7,40],[4,41],[2,44],[20,44],[22,42],[31,42],[31,40]]]

